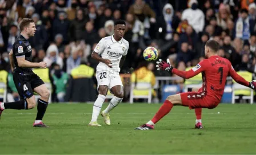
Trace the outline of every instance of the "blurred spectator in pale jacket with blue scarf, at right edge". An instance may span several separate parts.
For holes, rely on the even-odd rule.
[[[241,17],[238,18],[237,23],[235,24],[235,37],[249,40],[254,25],[255,20],[249,19],[248,11],[246,9],[241,10]]]

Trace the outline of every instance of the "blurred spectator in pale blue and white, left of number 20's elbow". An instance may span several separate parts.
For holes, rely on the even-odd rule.
[[[81,63],[81,58],[78,56],[78,51],[73,48],[71,56],[67,59],[67,74],[71,73],[73,68],[78,67]]]

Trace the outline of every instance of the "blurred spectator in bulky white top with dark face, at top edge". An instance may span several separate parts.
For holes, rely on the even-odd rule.
[[[195,32],[202,32],[205,26],[205,15],[202,10],[198,9],[197,0],[191,0],[189,6],[190,8],[183,11],[181,19],[186,19],[189,25],[194,28]]]

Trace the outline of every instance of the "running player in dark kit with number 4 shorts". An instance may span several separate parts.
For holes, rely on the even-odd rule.
[[[35,23],[32,19],[24,18],[19,24],[21,34],[16,38],[13,44],[13,50],[9,53],[11,68],[13,69],[13,80],[21,100],[11,103],[0,103],[0,116],[5,109],[32,109],[36,101],[34,92],[41,97],[37,104],[37,117],[33,127],[47,127],[42,119],[47,109],[50,91],[45,83],[40,79],[31,68],[46,68],[45,62],[31,62],[32,48],[27,39],[35,35]]]

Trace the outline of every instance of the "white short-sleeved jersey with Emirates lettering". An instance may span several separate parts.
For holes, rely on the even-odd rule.
[[[112,68],[105,63],[99,62],[97,71],[108,70],[119,72],[120,60],[122,56],[127,55],[128,48],[129,42],[123,38],[119,42],[114,39],[114,35],[102,38],[94,48],[94,52],[97,52],[103,59],[109,59],[112,63]]]

